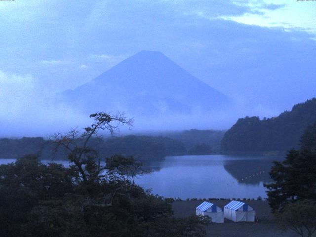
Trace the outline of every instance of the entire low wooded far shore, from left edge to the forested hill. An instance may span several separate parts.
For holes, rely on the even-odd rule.
[[[219,143],[224,132],[215,130],[189,130],[167,133],[164,136],[127,135],[91,138],[92,147],[105,156],[121,154],[134,156],[135,159],[148,162],[166,156],[209,155],[219,152]],[[78,143],[82,138],[78,138]],[[211,144],[214,144],[212,146]],[[23,137],[21,139],[0,139],[0,158],[18,158],[27,154],[40,154],[44,158],[65,159],[62,150],[51,155],[51,144],[42,137]]]

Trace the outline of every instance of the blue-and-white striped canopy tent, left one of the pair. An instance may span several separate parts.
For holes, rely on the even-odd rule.
[[[214,203],[204,201],[196,208],[197,215],[209,216],[214,223],[224,222],[224,213],[222,208],[218,207]]]

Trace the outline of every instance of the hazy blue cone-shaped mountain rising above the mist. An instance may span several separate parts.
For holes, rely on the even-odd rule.
[[[231,102],[156,51],[141,51],[62,96],[86,113],[124,111],[142,117],[214,112]]]

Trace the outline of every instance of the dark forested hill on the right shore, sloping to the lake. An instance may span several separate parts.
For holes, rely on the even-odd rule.
[[[316,98],[278,117],[239,118],[221,141],[224,152],[269,152],[298,148],[305,129],[316,121]]]

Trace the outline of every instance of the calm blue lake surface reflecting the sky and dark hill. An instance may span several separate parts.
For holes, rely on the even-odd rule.
[[[263,184],[271,182],[268,172],[272,161],[282,159],[231,155],[166,157],[147,164],[144,168],[153,172],[137,177],[135,182],[164,197],[267,197]],[[14,161],[0,159],[0,164]],[[67,161],[55,162],[68,165]]]

